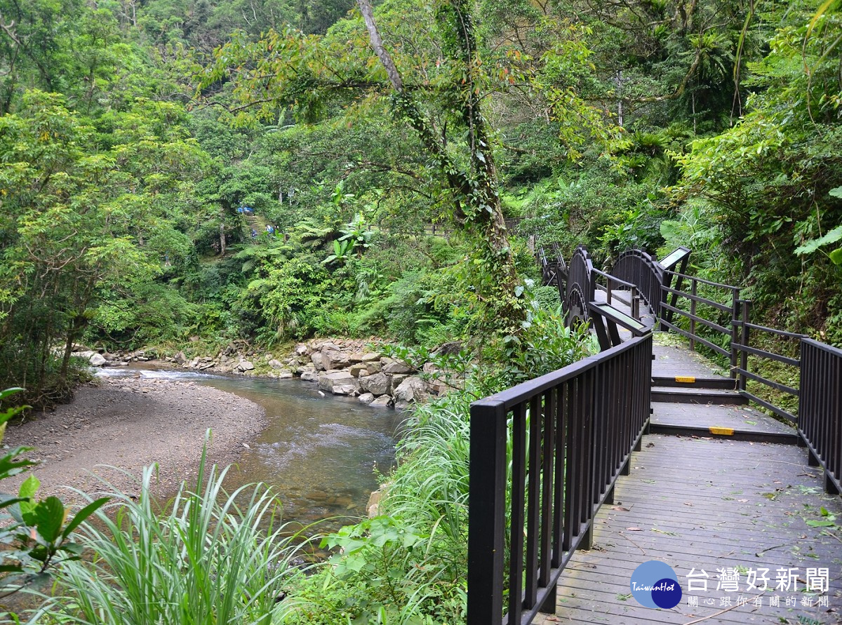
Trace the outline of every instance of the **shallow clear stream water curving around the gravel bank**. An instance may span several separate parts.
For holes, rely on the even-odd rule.
[[[284,504],[284,521],[317,522],[326,532],[365,516],[365,504],[394,461],[402,414],[373,409],[356,398],[322,395],[300,380],[224,377],[189,371],[104,370],[207,384],[258,403],[269,425],[226,478],[233,490],[245,483],[272,486]],[[312,532],[307,532],[312,533]]]

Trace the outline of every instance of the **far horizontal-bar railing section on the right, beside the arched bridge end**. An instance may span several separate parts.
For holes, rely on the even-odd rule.
[[[734,346],[739,343],[740,288],[677,271],[664,270],[663,273],[673,276],[676,286],[663,286],[663,291],[673,298],[669,303],[661,302],[662,327],[689,339],[691,350],[695,350],[698,343],[725,356],[730,361],[731,377],[736,377],[738,352]],[[689,285],[684,286],[687,291],[682,290],[684,282]],[[687,320],[686,328],[678,325],[676,315]],[[712,330],[715,334],[705,332],[704,329]],[[725,336],[725,346],[712,342],[716,334]]]

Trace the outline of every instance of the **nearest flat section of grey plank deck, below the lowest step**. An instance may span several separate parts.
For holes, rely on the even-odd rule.
[[[710,408],[710,407],[708,407]],[[657,407],[656,407],[657,409]],[[604,505],[594,522],[594,548],[578,552],[562,573],[557,614],[536,623],[839,622],[842,611],[842,542],[807,524],[824,517],[842,520],[842,499],[823,494],[821,473],[807,467],[807,453],[795,446],[690,437],[647,435],[632,455],[632,474],[616,484],[615,503]],[[637,528],[632,530],[629,528]],[[629,580],[650,559],[673,567],[684,590],[672,611],[649,609],[629,595]],[[717,569],[743,572],[741,592],[717,589]],[[717,615],[723,597],[736,604],[748,569],[797,568],[803,586],[807,568],[829,569],[829,607],[786,606],[803,592],[767,592],[764,606],[753,603]],[[688,592],[690,569],[704,569],[709,590]],[[699,605],[688,605],[695,596]],[[777,596],[781,606],[770,606]],[[809,598],[809,597],[808,597]],[[706,605],[712,600],[713,605]],[[828,612],[830,610],[831,612]],[[554,620],[555,619],[555,620]]]

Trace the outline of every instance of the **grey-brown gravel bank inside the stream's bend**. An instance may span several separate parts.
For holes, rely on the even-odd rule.
[[[29,457],[40,461],[35,468],[40,497],[56,494],[78,504],[81,498],[67,487],[93,495],[107,490],[104,478],[134,494],[139,486],[130,476],[139,479],[142,468],[155,462],[159,469],[153,488],[171,494],[182,480],[195,477],[206,430],[212,431],[210,461],[224,466],[236,462],[265,425],[256,403],[215,388],[106,377],[98,386],[79,388],[72,403],[52,413],[10,423],[3,445],[35,447]],[[17,489],[25,475],[0,489]]]

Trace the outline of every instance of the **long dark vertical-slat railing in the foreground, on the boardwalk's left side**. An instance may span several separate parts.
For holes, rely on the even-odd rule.
[[[651,375],[646,334],[472,403],[468,625],[555,612],[559,574],[639,449]]]

